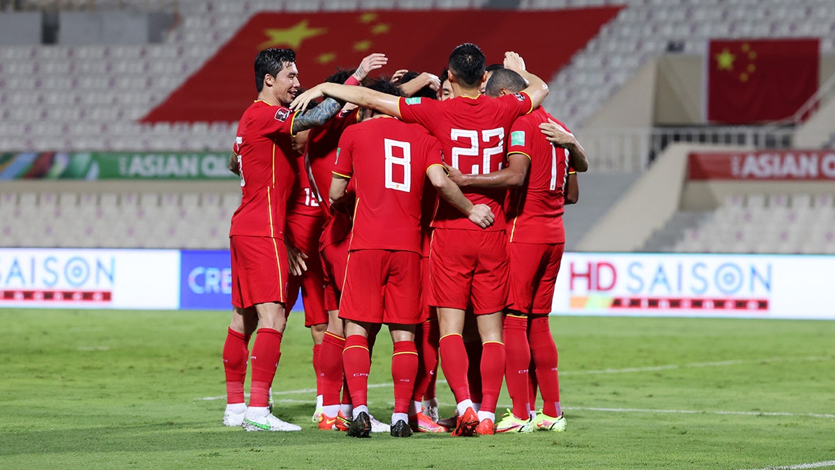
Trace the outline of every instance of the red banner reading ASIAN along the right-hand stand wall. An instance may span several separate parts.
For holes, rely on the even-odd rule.
[[[694,152],[690,180],[835,181],[835,151]]]

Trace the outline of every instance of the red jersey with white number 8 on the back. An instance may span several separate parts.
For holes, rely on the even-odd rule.
[[[417,125],[378,117],[342,134],[333,172],[357,190],[351,250],[421,253],[421,199],[429,166],[443,165],[438,139]]]

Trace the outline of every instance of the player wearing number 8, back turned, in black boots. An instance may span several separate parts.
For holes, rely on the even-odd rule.
[[[370,86],[399,95],[397,86],[385,79]],[[428,176],[473,227],[488,227],[493,212],[486,205],[473,205],[449,181],[441,144],[426,130],[373,110],[362,110],[361,116],[361,124],[342,134],[330,191],[331,200],[337,202],[345,195],[348,179],[355,181],[354,227],[340,304],[347,335],[343,360],[354,405],[348,435],[368,437],[371,431],[367,338],[375,330],[373,325],[388,324],[394,342],[391,434],[407,437],[412,435],[407,411],[417,373],[414,331],[423,320],[420,220],[424,179]]]

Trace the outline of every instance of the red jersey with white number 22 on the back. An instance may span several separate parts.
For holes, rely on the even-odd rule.
[[[504,138],[520,115],[530,112],[533,103],[524,93],[492,99],[458,96],[436,101],[424,98],[401,98],[400,115],[406,122],[417,122],[438,137],[445,162],[465,174],[487,174],[501,170],[506,162]],[[473,204],[487,204],[496,217],[486,230],[505,229],[504,199],[506,189],[462,188]],[[433,227],[483,230],[446,201],[438,200]]]

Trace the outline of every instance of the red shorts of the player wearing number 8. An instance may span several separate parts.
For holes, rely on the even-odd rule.
[[[420,253],[357,250],[348,256],[339,318],[375,324],[418,324]]]

